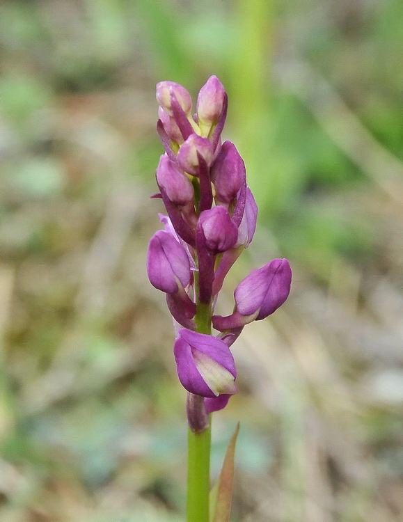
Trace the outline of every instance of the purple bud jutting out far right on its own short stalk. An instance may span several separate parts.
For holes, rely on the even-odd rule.
[[[251,271],[235,289],[235,312],[228,317],[214,315],[214,328],[225,331],[271,315],[290,294],[291,278],[290,263],[286,259],[274,259]]]

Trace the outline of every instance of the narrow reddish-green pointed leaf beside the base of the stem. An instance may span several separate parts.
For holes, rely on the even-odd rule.
[[[229,522],[231,514],[232,484],[234,482],[235,444],[239,422],[228,444],[220,476],[210,491],[210,522]]]

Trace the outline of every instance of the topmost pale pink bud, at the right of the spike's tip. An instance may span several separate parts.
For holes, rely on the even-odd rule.
[[[219,120],[223,111],[226,91],[216,76],[210,76],[197,97],[196,111],[199,123],[213,125]]]

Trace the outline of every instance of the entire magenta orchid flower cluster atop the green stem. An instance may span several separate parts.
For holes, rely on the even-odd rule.
[[[157,84],[157,132],[166,150],[157,184],[167,216],[148,247],[152,285],[165,292],[177,324],[177,374],[192,404],[203,397],[203,413],[226,406],[237,393],[230,346],[244,326],[274,313],[290,293],[291,269],[275,259],[251,271],[235,289],[235,308],[214,315],[230,267],[253,239],[258,207],[246,184],[244,161],[230,141],[221,143],[228,99],[219,79],[200,89],[192,114],[187,89],[172,81]],[[211,325],[218,331],[210,335]],[[194,423],[193,423],[194,424]],[[196,428],[195,428],[196,429]]]

